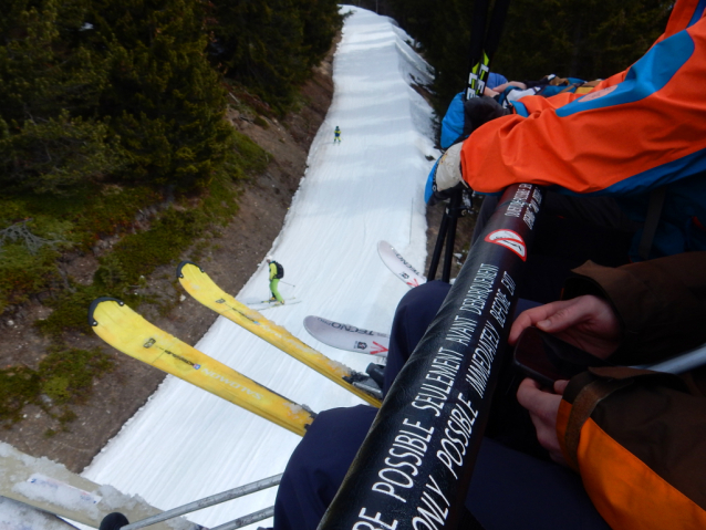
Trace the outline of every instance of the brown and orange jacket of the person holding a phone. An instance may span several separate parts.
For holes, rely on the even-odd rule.
[[[706,341],[706,252],[574,272],[567,297],[605,297],[621,319],[625,340],[609,361],[652,364]],[[564,391],[557,435],[611,528],[706,528],[704,366],[590,368]]]

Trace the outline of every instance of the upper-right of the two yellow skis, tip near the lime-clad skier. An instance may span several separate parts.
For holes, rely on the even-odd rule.
[[[364,374],[326,357],[313,347],[304,344],[281,325],[267,320],[259,312],[238,302],[235,298],[220,289],[204,270],[190,261],[183,261],[177,267],[177,278],[186,291],[197,301],[226,319],[241,325],[260,339],[279,347],[284,353],[301,361],[321,375],[343,386],[373,406],[380,407],[381,401],[368,392],[354,386],[345,378],[356,382],[368,377]]]

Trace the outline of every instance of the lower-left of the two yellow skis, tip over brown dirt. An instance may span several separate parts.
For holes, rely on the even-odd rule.
[[[116,350],[191,383],[300,436],[313,422],[307,408],[256,383],[153,325],[123,301],[98,298],[89,323]]]

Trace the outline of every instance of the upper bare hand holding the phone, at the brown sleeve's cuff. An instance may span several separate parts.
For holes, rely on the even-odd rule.
[[[512,323],[508,342],[515,344],[530,325],[601,358],[608,358],[623,337],[611,304],[591,294],[523,311]]]

